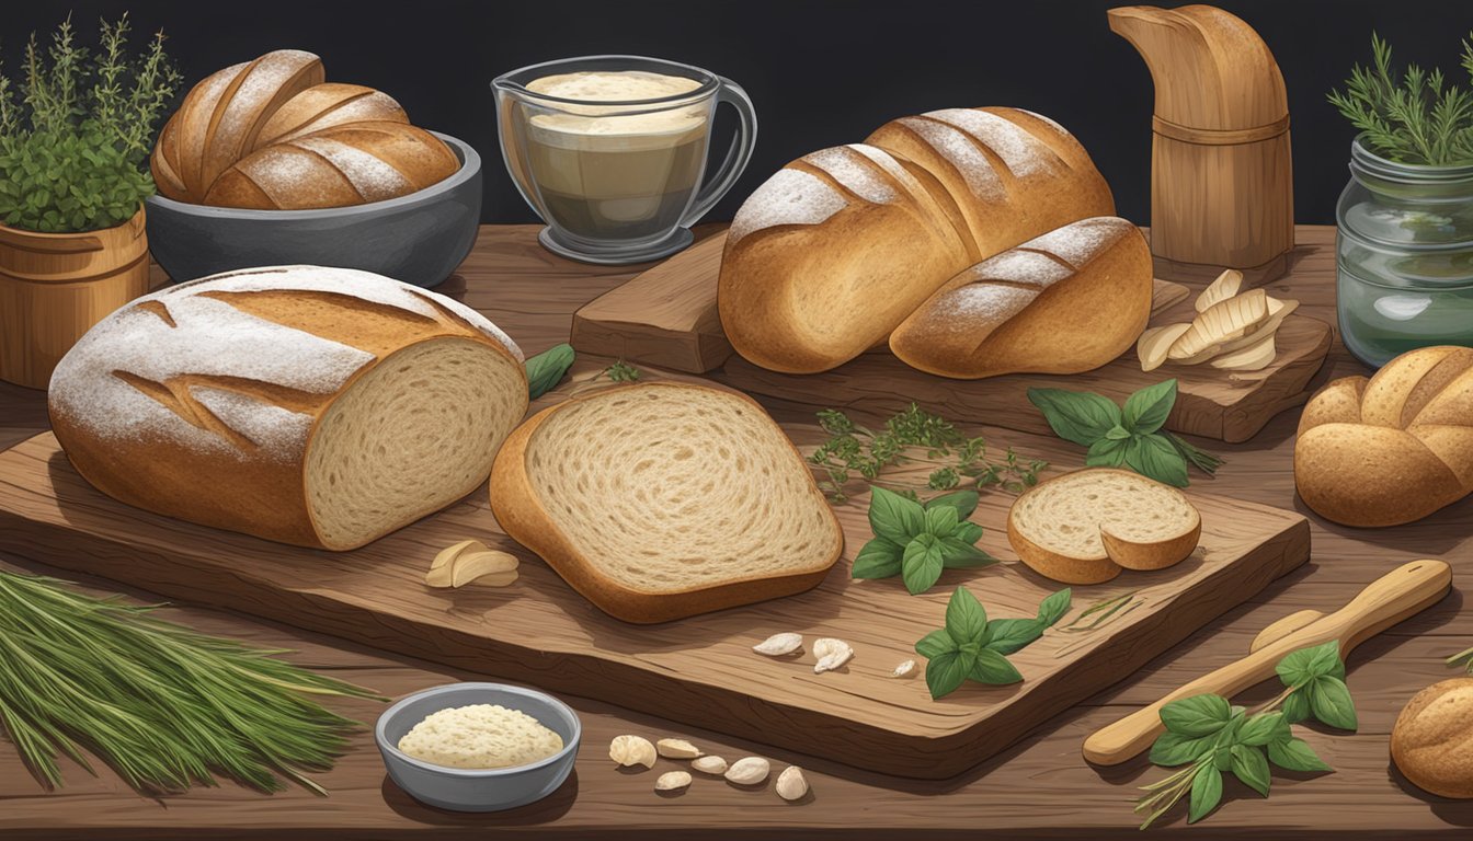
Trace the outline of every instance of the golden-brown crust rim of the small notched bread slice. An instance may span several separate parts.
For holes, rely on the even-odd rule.
[[[1018,507],[1034,493],[1053,492],[1058,485],[1078,482],[1078,479],[1086,474],[1118,474],[1127,477],[1130,482],[1149,483],[1158,486],[1159,489],[1170,490],[1171,493],[1180,496],[1186,508],[1192,511],[1192,527],[1159,541],[1131,541],[1119,535],[1112,535],[1105,524],[1097,524],[1100,543],[1103,546],[1103,551],[1099,555],[1071,555],[1049,549],[1028,538],[1028,535],[1018,524]],[[1013,551],[1018,552],[1018,557],[1038,574],[1065,583],[1105,583],[1118,576],[1122,569],[1140,571],[1164,570],[1186,560],[1187,555],[1196,549],[1200,541],[1202,515],[1198,513],[1196,505],[1192,505],[1184,493],[1175,488],[1161,485],[1153,479],[1146,479],[1134,471],[1114,467],[1087,467],[1084,470],[1075,470],[1040,482],[1034,488],[1021,493],[1008,511],[1008,542],[1012,545]]]

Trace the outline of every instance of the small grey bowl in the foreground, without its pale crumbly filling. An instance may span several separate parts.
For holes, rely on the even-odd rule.
[[[563,750],[516,767],[446,767],[414,759],[399,750],[399,739],[430,713],[467,704],[501,704],[521,710],[563,736]],[[379,716],[374,739],[389,776],[405,792],[439,809],[499,812],[542,800],[563,785],[577,759],[583,725],[577,713],[552,695],[505,683],[449,683],[415,692]]]

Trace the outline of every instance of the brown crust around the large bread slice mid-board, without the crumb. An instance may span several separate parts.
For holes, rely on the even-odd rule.
[[[554,571],[558,573],[558,576],[563,577],[563,580],[569,583],[569,586],[583,595],[583,598],[591,601],[595,607],[614,619],[636,624],[670,622],[688,616],[710,613],[713,610],[723,610],[770,598],[795,595],[818,586],[828,574],[829,569],[843,555],[844,533],[838,524],[838,518],[834,517],[832,511],[828,508],[828,501],[823,499],[822,492],[818,489],[818,485],[813,483],[812,474],[809,474],[807,467],[803,464],[801,454],[798,454],[798,449],[792,446],[792,442],[787,437],[787,434],[782,434],[782,437],[788,442],[788,448],[792,451],[795,462],[794,468],[803,470],[809,483],[813,485],[813,495],[828,513],[826,520],[832,529],[832,552],[829,552],[812,569],[782,576],[735,577],[726,583],[714,586],[651,592],[633,589],[614,580],[600,570],[597,560],[586,557],[577,549],[577,546],[574,546],[570,536],[563,532],[558,523],[548,513],[546,507],[538,498],[538,492],[533,488],[527,471],[527,448],[538,429],[558,411],[577,405],[583,401],[604,399],[619,392],[648,387],[685,389],[697,392],[713,390],[709,386],[675,381],[610,386],[598,392],[576,396],[563,404],[548,407],[532,415],[526,423],[517,427],[510,437],[507,437],[505,443],[501,446],[501,452],[496,454],[496,462],[491,470],[491,510],[502,530],[523,546],[536,552],[548,563],[548,566],[554,569]],[[773,423],[767,415],[767,411],[750,396],[739,392],[728,392],[725,389],[719,390],[750,404],[753,409],[760,412],[762,418],[766,418],[767,423]]]

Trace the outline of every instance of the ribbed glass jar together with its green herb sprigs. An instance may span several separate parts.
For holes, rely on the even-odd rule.
[[[1461,68],[1473,77],[1470,40]],[[1393,68],[1371,35],[1371,66],[1329,99],[1360,130],[1336,208],[1345,346],[1380,367],[1414,348],[1473,345],[1473,90],[1441,69]]]

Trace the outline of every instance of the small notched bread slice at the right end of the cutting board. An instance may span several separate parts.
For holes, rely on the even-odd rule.
[[[1040,483],[1008,513],[1008,542],[1056,582],[1097,585],[1161,570],[1196,548],[1202,515],[1186,495],[1128,470],[1091,467]]]

